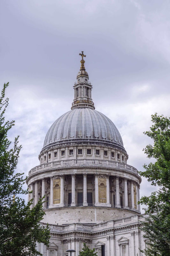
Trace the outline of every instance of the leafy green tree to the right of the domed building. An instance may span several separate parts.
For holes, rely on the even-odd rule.
[[[158,191],[151,196],[144,196],[140,203],[145,204],[147,217],[141,228],[148,239],[148,248],[144,250],[146,256],[170,255],[170,118],[157,113],[152,115],[150,131],[144,132],[153,140],[144,149],[148,158],[154,162],[144,165],[144,172],[140,174],[147,178]]]

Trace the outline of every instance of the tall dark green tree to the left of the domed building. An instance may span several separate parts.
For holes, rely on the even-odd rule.
[[[42,255],[36,250],[36,242],[49,243],[49,228],[43,228],[39,222],[43,219],[43,198],[33,209],[32,201],[25,204],[18,194],[27,194],[23,190],[24,173],[17,173],[17,163],[21,146],[18,137],[13,147],[7,138],[7,133],[14,121],[6,121],[4,113],[8,106],[5,99],[4,84],[0,97],[0,256],[35,256]]]

